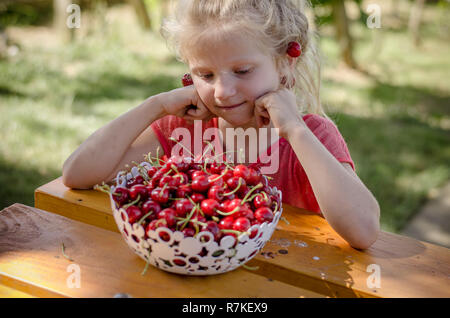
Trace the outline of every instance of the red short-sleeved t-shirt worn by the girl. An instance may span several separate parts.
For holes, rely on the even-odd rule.
[[[315,114],[307,114],[303,116],[303,120],[317,139],[320,140],[339,162],[347,162],[352,166],[353,170],[355,169],[355,164],[350,156],[347,144],[332,121]],[[202,138],[201,136],[203,136],[203,133],[207,128],[218,129],[218,118],[215,117],[207,123],[202,123],[201,133],[199,127],[197,127],[197,131],[194,131],[194,125],[189,125],[183,118],[172,115],[156,120],[151,124],[151,127],[158,137],[164,153],[170,157],[172,147],[176,143],[169,140],[169,137],[172,136],[172,132],[175,128],[186,128],[189,130],[190,136],[200,136],[200,138]],[[195,133],[197,133],[197,136]],[[191,150],[195,149],[193,139],[194,137],[191,138]],[[266,174],[273,178],[269,180],[269,185],[272,187],[276,186],[282,191],[282,200],[284,203],[321,213],[319,204],[317,203],[311,184],[309,183],[308,176],[303,170],[303,167],[289,142],[280,137],[280,139],[272,144],[264,153],[267,154],[267,156],[270,156],[273,151],[279,151],[278,156],[282,163],[280,163],[276,173]],[[261,161],[261,157],[262,156],[258,157],[257,162],[250,164],[249,167],[252,167],[253,165],[263,167],[265,164],[261,162],[267,162],[267,160],[263,159]]]

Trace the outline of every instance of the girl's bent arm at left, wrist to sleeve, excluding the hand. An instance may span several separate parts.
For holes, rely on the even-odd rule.
[[[89,189],[111,180],[126,163],[141,162],[145,153],[154,153],[160,144],[149,126],[165,115],[159,98],[148,98],[94,132],[64,162],[63,183]]]

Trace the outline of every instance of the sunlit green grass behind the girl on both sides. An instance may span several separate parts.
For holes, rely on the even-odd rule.
[[[421,48],[404,27],[354,24],[363,72],[342,70],[326,28],[321,37],[324,104],[391,232],[450,179],[450,46],[436,16],[442,12],[427,7]],[[103,33],[64,46],[43,45],[31,34],[16,40],[19,54],[0,60],[0,208],[34,205],[34,190],[60,176],[91,133],[180,86],[186,70],[159,37],[134,24],[109,22]]]

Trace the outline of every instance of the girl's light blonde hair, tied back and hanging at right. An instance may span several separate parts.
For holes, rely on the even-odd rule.
[[[284,70],[285,85],[294,90],[299,111],[328,118],[320,102],[320,57],[303,13],[308,4],[294,1],[179,0],[175,16],[163,21],[161,34],[184,63],[205,36],[219,38],[238,31],[257,39],[258,46],[273,56],[278,70]],[[291,41],[302,47],[292,72],[286,57]]]

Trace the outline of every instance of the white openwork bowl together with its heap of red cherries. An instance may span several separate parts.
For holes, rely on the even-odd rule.
[[[96,189],[108,193],[128,246],[162,270],[236,269],[264,247],[281,217],[281,191],[257,168],[150,154],[134,164]]]

